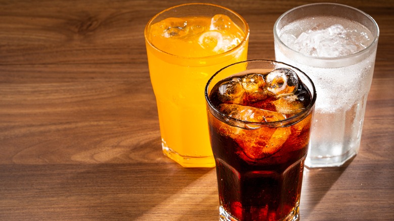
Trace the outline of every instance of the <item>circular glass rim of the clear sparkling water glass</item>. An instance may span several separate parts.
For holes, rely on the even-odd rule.
[[[343,7],[343,8],[348,8],[348,9],[350,9],[350,10],[357,11],[357,12],[361,13],[362,15],[364,15],[364,16],[365,16],[366,18],[368,18],[368,19],[373,23],[373,25],[376,27],[376,36],[374,36],[373,41],[372,41],[366,48],[364,48],[364,49],[362,49],[362,50],[360,50],[360,51],[357,51],[356,53],[352,53],[352,54],[349,54],[349,55],[347,55],[347,56],[334,57],[334,58],[310,56],[309,54],[304,54],[304,53],[301,53],[301,52],[299,52],[299,51],[297,51],[297,50],[294,50],[294,49],[292,49],[291,47],[289,47],[287,44],[283,43],[283,41],[280,39],[280,37],[279,37],[279,35],[278,35],[277,31],[276,31],[276,30],[277,30],[278,23],[279,23],[279,21],[280,21],[283,17],[285,17],[287,14],[289,14],[289,13],[291,13],[291,12],[293,12],[293,11],[296,11],[296,10],[299,10],[299,9],[302,9],[302,8],[305,8],[305,7],[310,7],[310,6],[324,6],[324,5],[325,5],[325,6],[339,6],[339,7]],[[359,10],[359,9],[356,9],[356,8],[354,8],[354,7],[347,6],[347,5],[343,5],[343,4],[338,4],[338,3],[312,3],[312,4],[307,4],[307,5],[298,6],[298,7],[292,8],[292,9],[286,11],[285,13],[283,13],[281,16],[279,16],[279,18],[275,21],[275,24],[274,24],[274,39],[277,39],[277,40],[280,42],[280,44],[284,45],[287,49],[289,49],[289,50],[295,52],[296,54],[301,55],[302,57],[306,57],[306,58],[313,59],[313,60],[320,60],[320,61],[337,61],[337,60],[345,60],[345,59],[357,57],[357,56],[359,56],[360,54],[366,53],[366,52],[367,52],[368,50],[370,50],[375,44],[377,44],[377,41],[378,41],[378,39],[379,39],[379,33],[380,33],[380,31],[379,31],[379,26],[378,26],[378,24],[376,23],[376,21],[375,21],[370,15],[368,15],[367,13],[365,13],[365,12]]]

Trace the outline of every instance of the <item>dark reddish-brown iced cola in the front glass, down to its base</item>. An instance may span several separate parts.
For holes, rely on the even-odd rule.
[[[298,220],[311,91],[293,70],[279,68],[229,76],[207,99],[220,113],[208,105],[221,220]],[[312,111],[291,124],[270,125],[306,108]]]

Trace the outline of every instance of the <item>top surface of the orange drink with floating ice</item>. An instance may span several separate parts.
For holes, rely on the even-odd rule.
[[[186,58],[202,58],[237,46],[244,33],[226,15],[167,18],[153,24],[150,40],[157,48]]]

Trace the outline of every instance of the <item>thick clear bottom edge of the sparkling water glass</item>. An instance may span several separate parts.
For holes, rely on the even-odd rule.
[[[331,157],[309,157],[305,159],[305,166],[307,168],[327,168],[327,167],[340,167],[348,160],[357,155],[358,150],[350,150],[340,156]]]

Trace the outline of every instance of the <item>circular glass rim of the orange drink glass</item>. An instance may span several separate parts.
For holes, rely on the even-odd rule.
[[[176,54],[168,53],[168,52],[166,52],[166,51],[164,51],[164,50],[162,50],[162,49],[156,47],[156,46],[149,40],[149,38],[147,37],[147,36],[148,36],[148,29],[149,29],[149,27],[152,25],[152,22],[153,22],[157,17],[159,17],[160,15],[162,15],[162,14],[164,14],[164,13],[170,11],[170,10],[173,10],[173,9],[176,9],[176,8],[180,8],[180,7],[185,7],[185,6],[192,6],[192,5],[197,5],[197,6],[212,6],[212,7],[216,7],[216,8],[221,8],[221,9],[223,9],[223,10],[226,10],[226,11],[228,11],[228,12],[234,14],[236,17],[238,17],[238,18],[242,21],[242,23],[245,25],[245,33],[244,33],[244,37],[243,37],[243,39],[241,40],[241,42],[240,42],[239,44],[237,44],[235,47],[231,48],[230,50],[224,51],[223,53],[215,54],[215,55],[212,55],[212,56],[206,56],[206,57],[193,57],[193,58],[189,58],[189,57],[182,57],[182,56],[177,56]],[[187,4],[181,4],[181,5],[177,5],[177,6],[170,7],[170,8],[168,8],[168,9],[165,9],[165,10],[159,12],[159,13],[156,14],[154,17],[152,17],[152,18],[149,20],[149,22],[147,22],[147,24],[146,24],[146,26],[145,26],[145,29],[144,29],[144,37],[145,37],[145,40],[146,40],[147,43],[149,43],[149,45],[152,46],[152,48],[154,48],[155,50],[159,51],[160,53],[164,53],[164,54],[167,54],[168,56],[176,57],[176,58],[178,58],[178,59],[184,59],[184,60],[201,60],[201,59],[208,59],[208,58],[211,59],[211,58],[222,57],[223,55],[230,54],[230,53],[232,53],[233,51],[235,51],[235,50],[237,50],[238,48],[240,48],[242,45],[244,45],[244,44],[248,41],[249,35],[250,35],[249,24],[248,24],[248,22],[247,22],[241,15],[239,15],[238,13],[236,13],[235,11],[233,11],[233,10],[231,10],[231,9],[225,8],[225,7],[223,7],[223,6],[215,5],[215,4],[210,4],[210,3],[187,3]]]

